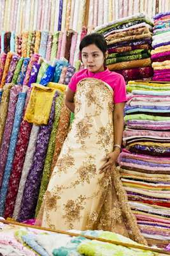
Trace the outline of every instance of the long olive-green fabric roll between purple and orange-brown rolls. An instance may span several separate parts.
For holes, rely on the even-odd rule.
[[[47,150],[46,158],[45,158],[43,177],[41,179],[41,186],[39,189],[38,204],[36,206],[36,217],[38,216],[38,212],[39,212],[39,209],[40,209],[42,201],[43,201],[43,196],[45,194],[45,191],[47,189],[48,182],[50,179],[51,164],[52,164],[52,159],[53,159],[53,153],[55,150],[55,138],[56,138],[56,134],[57,134],[57,128],[59,125],[60,111],[61,111],[63,100],[64,100],[64,94],[61,94],[59,97],[57,97],[57,100],[55,102],[55,119],[53,122],[52,132],[50,134],[50,141],[48,143],[48,150]]]

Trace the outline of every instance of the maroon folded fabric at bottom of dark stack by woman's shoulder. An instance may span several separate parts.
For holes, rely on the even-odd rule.
[[[152,67],[129,68],[129,69],[116,70],[116,72],[124,76],[125,80],[134,80],[134,79],[139,79],[143,77],[153,76]]]

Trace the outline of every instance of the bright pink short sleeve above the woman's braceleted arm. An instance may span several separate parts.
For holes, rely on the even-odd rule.
[[[118,76],[116,84],[114,86],[114,103],[121,103],[127,101],[125,79],[123,76]]]

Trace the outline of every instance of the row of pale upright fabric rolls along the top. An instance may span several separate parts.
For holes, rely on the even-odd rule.
[[[153,17],[170,10],[169,0],[1,0],[0,28],[5,31],[88,30],[139,12]]]

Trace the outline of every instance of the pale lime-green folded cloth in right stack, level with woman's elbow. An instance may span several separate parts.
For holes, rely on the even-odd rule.
[[[129,120],[151,120],[151,121],[162,121],[170,120],[170,116],[152,116],[145,114],[126,115],[124,117],[125,122]]]

